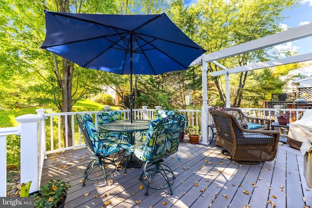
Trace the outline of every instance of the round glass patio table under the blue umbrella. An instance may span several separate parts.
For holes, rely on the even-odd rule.
[[[101,128],[107,131],[114,132],[129,132],[130,133],[130,143],[132,145],[135,144],[135,139],[133,136],[134,132],[143,132],[148,130],[148,122],[149,120],[133,120],[130,123],[130,120],[121,120],[121,121],[113,121],[110,123],[105,123],[101,125]],[[120,162],[121,167],[125,167],[125,159]],[[130,155],[127,167],[129,168],[141,168],[142,161],[137,157]]]

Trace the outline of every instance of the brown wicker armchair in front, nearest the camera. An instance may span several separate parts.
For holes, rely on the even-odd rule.
[[[215,145],[225,148],[236,161],[272,161],[277,152],[279,132],[243,129],[234,115],[210,112],[217,137]]]

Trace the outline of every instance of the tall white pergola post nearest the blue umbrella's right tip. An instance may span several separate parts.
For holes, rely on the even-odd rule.
[[[203,105],[201,106],[201,137],[202,143],[208,144],[209,131],[208,131],[208,105],[207,105],[207,62],[201,63],[202,73],[202,88],[203,88]]]

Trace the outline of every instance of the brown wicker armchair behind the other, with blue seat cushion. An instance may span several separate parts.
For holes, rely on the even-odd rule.
[[[271,120],[268,118],[254,118],[245,115],[240,109],[238,108],[225,108],[224,111],[227,113],[231,113],[234,115],[240,122],[240,125],[244,129],[248,129],[248,124],[259,124],[261,127],[254,128],[256,130],[270,130]],[[253,129],[253,128],[252,128]]]

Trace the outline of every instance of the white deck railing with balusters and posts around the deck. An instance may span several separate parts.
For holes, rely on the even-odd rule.
[[[157,107],[160,109],[161,107]],[[252,117],[265,117],[271,120],[276,119],[276,109],[254,109],[254,108],[241,108],[241,110]],[[147,109],[144,106],[143,109],[134,110],[134,116],[136,119],[151,120],[154,116],[155,109]],[[191,130],[191,133],[200,134],[200,129],[203,128],[201,121],[201,111],[199,110],[179,110],[188,118],[187,126]],[[296,120],[305,112],[305,109],[282,109],[282,112],[296,113]],[[81,132],[78,128],[76,121],[76,113],[44,113],[44,109],[36,110],[38,114],[22,115],[16,118],[20,122],[19,127],[0,128],[0,197],[6,196],[6,135],[20,134],[20,171],[21,171],[21,183],[27,183],[33,181],[30,192],[36,191],[39,188],[42,164],[44,156],[48,153],[57,151],[64,151],[69,149],[75,149],[85,146],[84,141],[81,138]],[[129,119],[129,110],[121,110],[124,119]],[[98,112],[79,112],[89,113],[95,119],[97,125]],[[69,147],[67,142],[64,143],[63,131],[65,131],[66,138],[68,138],[68,127],[65,126],[64,130],[61,125],[61,116],[69,115],[71,119],[71,139],[73,146]],[[67,122],[67,116],[65,116],[65,122]],[[213,123],[211,115],[208,116],[208,124]],[[276,121],[277,122],[277,121]],[[290,120],[292,122],[292,120]],[[208,127],[206,127],[208,128]],[[209,132],[211,130],[209,129]],[[212,133],[208,133],[208,136]],[[286,132],[282,132],[282,136],[287,136]],[[209,136],[210,137],[210,136]],[[203,140],[207,138],[203,138]]]

